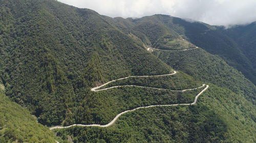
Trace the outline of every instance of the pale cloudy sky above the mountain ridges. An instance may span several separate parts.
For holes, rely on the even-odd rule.
[[[211,25],[256,21],[256,0],[58,0],[110,17],[140,18],[166,14]]]

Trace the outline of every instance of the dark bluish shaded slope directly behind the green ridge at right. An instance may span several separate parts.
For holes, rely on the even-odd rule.
[[[203,47],[206,51],[219,55],[228,65],[241,71],[246,78],[255,84],[255,69],[239,45],[220,31],[209,31],[206,34],[188,36],[191,42]],[[232,51],[232,52],[230,52]]]

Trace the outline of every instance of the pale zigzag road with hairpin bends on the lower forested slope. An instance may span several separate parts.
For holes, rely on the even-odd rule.
[[[91,91],[98,92],[98,91],[108,90],[108,89],[118,88],[118,87],[151,88],[151,87],[141,87],[141,86],[138,86],[138,85],[121,85],[121,86],[115,86],[115,87],[100,89],[101,87],[103,87],[103,86],[106,85],[106,84],[109,84],[109,83],[114,82],[114,81],[117,81],[117,80],[125,79],[125,78],[130,78],[130,77],[168,76],[168,75],[174,75],[174,74],[176,74],[176,73],[177,73],[177,72],[174,71],[174,73],[171,73],[171,74],[162,74],[162,75],[127,76],[127,77],[124,77],[124,78],[119,78],[119,79],[115,79],[115,80],[106,82],[106,83],[104,83],[104,84],[102,84],[102,85],[100,85],[100,86],[98,86],[98,87],[92,88]],[[205,87],[205,85],[206,85],[206,84],[203,84],[201,87],[198,87],[198,88],[195,88],[195,89],[186,89],[186,90],[177,91],[177,92],[185,92],[185,91],[188,91],[188,90],[196,90],[196,89]],[[195,97],[195,100],[194,100],[193,103],[181,103],[181,104],[167,104],[167,105],[142,106],[142,107],[137,107],[137,108],[134,108],[134,109],[131,109],[131,110],[126,110],[126,111],[123,111],[123,112],[119,113],[110,123],[108,123],[108,124],[106,124],[106,125],[99,125],[99,124],[90,124],[90,125],[73,124],[73,125],[65,126],[65,127],[61,127],[61,126],[51,127],[50,130],[53,130],[53,129],[63,129],[63,128],[70,128],[70,127],[73,127],[73,126],[81,126],[81,127],[109,127],[109,126],[113,125],[113,124],[116,122],[116,120],[117,120],[121,115],[123,115],[124,113],[126,113],[126,112],[132,112],[132,111],[135,111],[135,110],[140,109],[140,108],[150,108],[150,107],[156,107],[156,106],[194,105],[194,104],[197,103],[198,97],[199,97],[204,91],[206,91],[206,90],[208,89],[208,87],[209,87],[209,85],[206,85],[206,87]],[[100,89],[100,90],[98,90],[98,89]],[[151,88],[151,89],[166,90],[166,89],[158,89],[158,88]],[[172,90],[172,91],[175,91],[175,90]]]

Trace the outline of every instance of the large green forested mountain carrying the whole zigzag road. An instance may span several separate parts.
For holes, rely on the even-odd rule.
[[[228,31],[167,15],[111,18],[52,0],[1,0],[0,11],[3,97],[57,126],[63,142],[256,141],[251,58]]]

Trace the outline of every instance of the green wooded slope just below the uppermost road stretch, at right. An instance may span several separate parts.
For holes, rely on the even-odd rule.
[[[155,50],[153,53],[175,69],[202,81],[228,88],[237,94],[242,93],[253,104],[256,103],[255,85],[218,56],[211,55],[200,48],[179,52]]]

